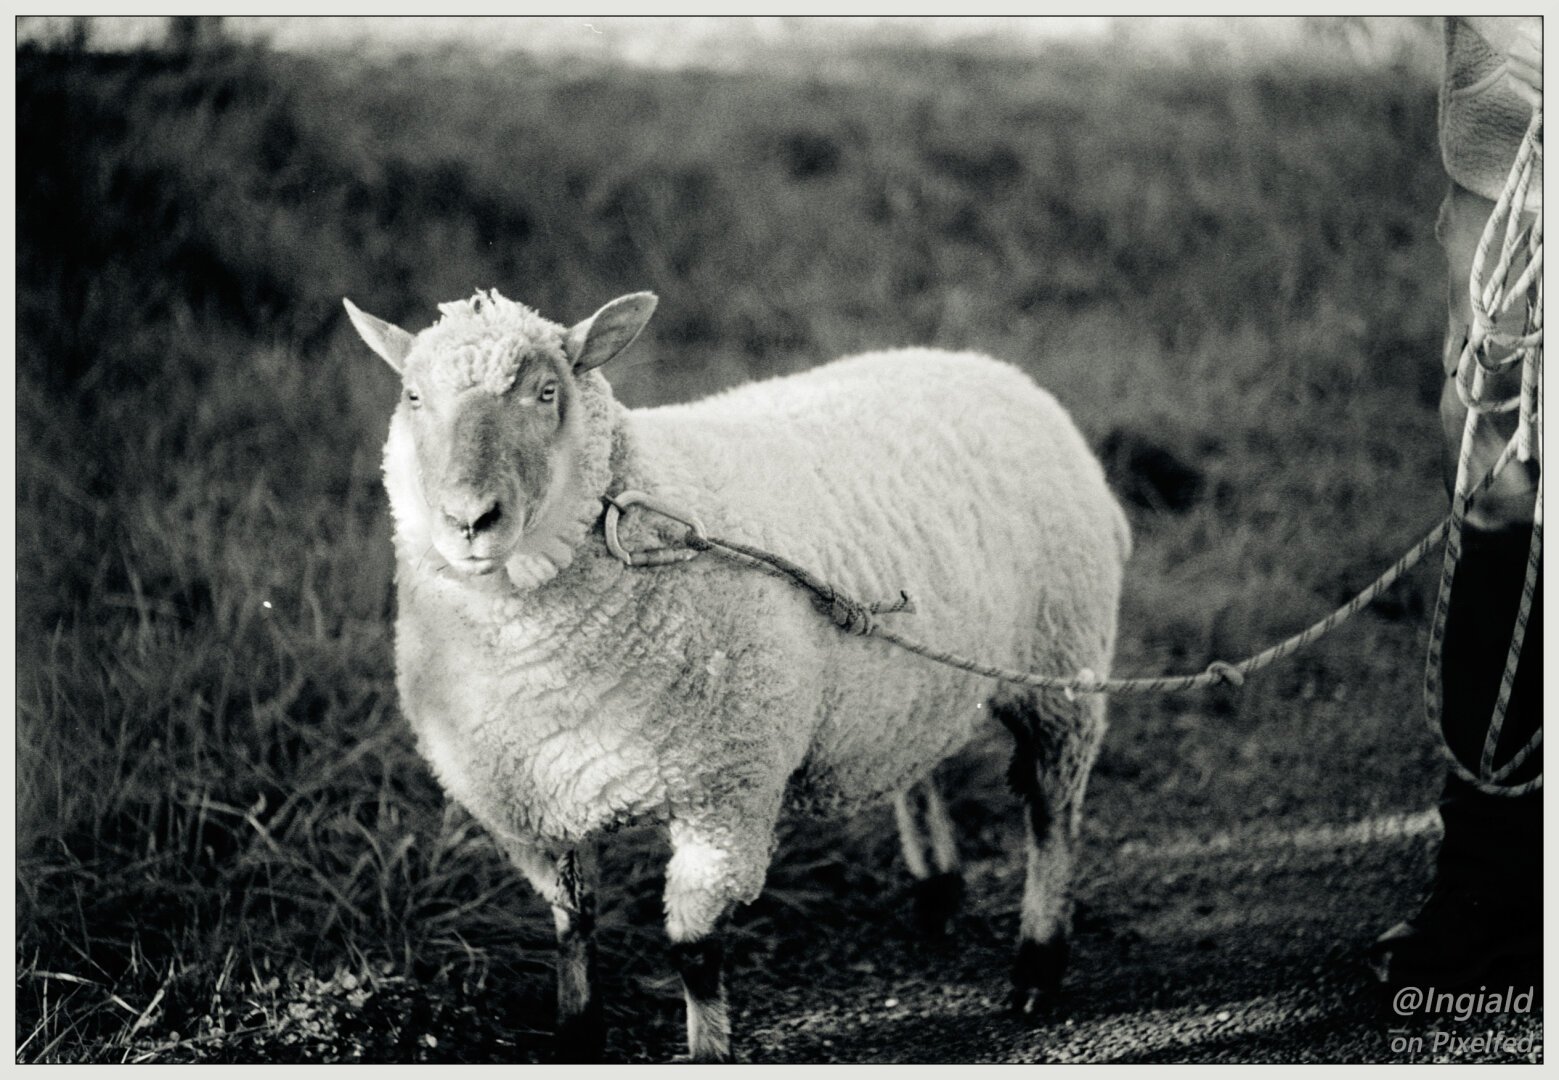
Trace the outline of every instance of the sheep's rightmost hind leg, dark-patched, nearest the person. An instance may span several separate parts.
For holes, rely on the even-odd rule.
[[[1071,957],[1071,882],[1079,810],[1104,736],[1104,700],[1035,695],[996,708],[1015,746],[1009,781],[1023,798],[1026,860],[1012,1007],[1052,1005]]]

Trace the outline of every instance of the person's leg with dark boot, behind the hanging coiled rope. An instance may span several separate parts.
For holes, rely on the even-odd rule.
[[[1450,263],[1448,374],[1470,323],[1467,277],[1494,204],[1453,189],[1441,210],[1441,242]],[[1504,396],[1504,388],[1498,388]],[[1441,402],[1448,478],[1455,478],[1465,410],[1447,382]],[[1481,477],[1514,430],[1514,418],[1483,422],[1472,471]],[[1531,539],[1536,466],[1511,463],[1481,497],[1462,530],[1462,556],[1451,583],[1442,650],[1441,723],[1447,745],[1472,771],[1494,714],[1515,623]],[[1542,589],[1532,602],[1497,762],[1542,725]],[[1534,754],[1511,782],[1542,771]],[[1450,775],[1441,798],[1445,837],[1434,888],[1423,909],[1377,940],[1370,960],[1391,985],[1476,983],[1511,960],[1542,952],[1542,792],[1489,795]]]

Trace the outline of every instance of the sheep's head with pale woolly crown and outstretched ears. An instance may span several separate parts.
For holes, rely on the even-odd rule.
[[[613,402],[594,369],[653,310],[655,296],[633,293],[564,327],[494,290],[441,304],[412,335],[346,301],[402,382],[385,483],[408,558],[437,553],[461,575],[507,569],[521,588],[569,564],[610,478]]]

